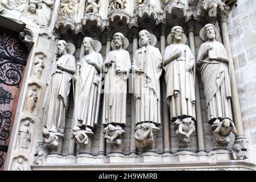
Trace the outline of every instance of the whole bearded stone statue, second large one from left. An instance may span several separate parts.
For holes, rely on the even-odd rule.
[[[77,110],[77,126],[85,126],[85,129],[92,131],[94,125],[97,124],[96,117],[99,105],[97,105],[100,85],[100,72],[103,58],[100,53],[95,51],[94,40],[92,38],[84,38],[83,44],[86,55],[80,60],[80,72],[76,72],[74,81],[76,81],[76,89],[78,91],[78,99],[76,104]],[[77,78],[79,77],[79,81]]]

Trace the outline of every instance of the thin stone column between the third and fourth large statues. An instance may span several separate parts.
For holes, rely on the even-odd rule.
[[[138,49],[138,28],[134,27],[132,29],[133,31],[133,55],[135,53],[135,51]],[[129,83],[131,85],[131,81],[129,79]],[[129,85],[129,86],[130,86]],[[131,96],[131,140],[130,140],[130,154],[135,154],[137,152],[136,150],[136,141],[135,141],[135,127],[136,127],[136,123],[135,123],[135,100],[134,100],[134,96]]]

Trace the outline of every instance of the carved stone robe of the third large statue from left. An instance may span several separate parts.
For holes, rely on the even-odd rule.
[[[110,51],[107,60],[115,60],[110,67],[102,66],[102,71],[106,73],[104,104],[102,123],[122,123],[126,124],[126,94],[127,79],[131,69],[130,54],[126,50]],[[126,69],[127,73],[119,73],[116,71]]]

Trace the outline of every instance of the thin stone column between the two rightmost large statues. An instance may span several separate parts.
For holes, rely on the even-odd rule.
[[[189,46],[196,59],[196,45],[195,45],[195,20],[191,19],[188,22],[188,38]],[[196,131],[197,131],[197,145],[199,151],[205,151],[204,146],[204,130],[203,130],[203,120],[201,113],[201,100],[200,100],[200,89],[199,89],[199,74],[196,67],[196,61],[194,64],[193,72],[195,75],[195,93],[196,93]]]

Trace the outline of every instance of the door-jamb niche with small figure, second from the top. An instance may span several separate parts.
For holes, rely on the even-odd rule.
[[[28,84],[26,98],[23,105],[24,113],[38,115],[41,92],[42,87],[40,85],[36,83]]]

